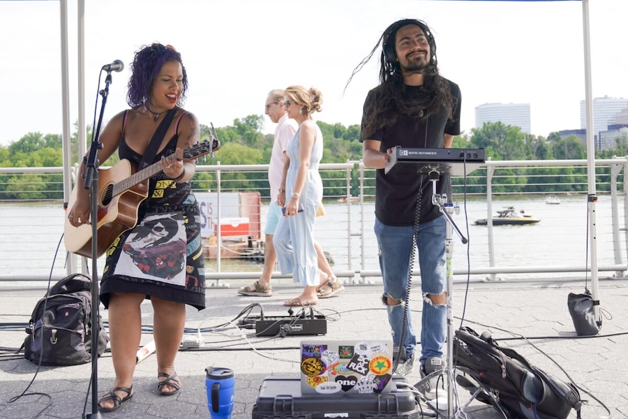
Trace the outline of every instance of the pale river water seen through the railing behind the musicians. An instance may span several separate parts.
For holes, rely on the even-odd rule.
[[[454,234],[452,263],[454,272],[467,266],[472,269],[489,265],[488,228],[475,226],[474,220],[486,218],[486,202],[459,203],[460,211],[452,218],[461,234],[462,244]],[[493,228],[495,265],[500,267],[585,266],[590,254],[588,207],[585,196],[562,198],[560,205],[547,205],[544,199],[493,202],[493,212],[513,205],[526,214],[541,219],[530,226],[497,226]],[[317,219],[316,237],[334,260],[336,272],[378,270],[377,246],[373,234],[374,205],[325,203],[327,214]],[[267,205],[262,205],[262,230]],[[63,246],[63,216],[57,204],[1,204],[0,260],[1,275],[47,276],[65,274],[66,251]],[[620,214],[623,207],[620,203]],[[611,198],[601,196],[596,204],[597,260],[599,266],[614,265],[612,241]],[[622,225],[622,223],[620,223]],[[626,260],[625,229],[622,228],[619,257]],[[59,247],[59,253],[55,252]],[[415,264],[415,266],[418,263]],[[99,265],[100,266],[100,265]],[[590,266],[590,263],[589,263]],[[244,260],[222,260],[226,272],[258,271],[259,263]],[[216,263],[208,261],[208,272],[216,272]],[[608,272],[606,274],[613,274]],[[533,277],[539,274],[508,274],[507,277]],[[543,274],[551,277],[555,274]],[[583,273],[576,275],[584,276]],[[486,277],[486,274],[481,275]],[[562,274],[565,276],[565,274]],[[574,276],[573,274],[571,276]]]

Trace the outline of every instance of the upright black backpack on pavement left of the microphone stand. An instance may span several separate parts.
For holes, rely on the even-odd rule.
[[[45,311],[44,311],[45,306]],[[107,346],[107,332],[98,316],[98,356]],[[91,280],[72,274],[54,284],[37,302],[24,339],[24,358],[41,365],[91,362]]]

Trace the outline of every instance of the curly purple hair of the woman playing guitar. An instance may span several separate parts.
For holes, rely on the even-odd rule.
[[[126,103],[131,108],[137,108],[143,105],[144,102],[150,101],[153,82],[161,67],[167,61],[178,61],[181,64],[184,76],[183,90],[177,105],[183,105],[188,91],[188,74],[186,73],[186,66],[181,61],[181,54],[170,45],[154,43],[152,45],[144,45],[139,51],[135,52],[135,59],[133,59],[133,63],[130,65],[131,76],[128,79]]]

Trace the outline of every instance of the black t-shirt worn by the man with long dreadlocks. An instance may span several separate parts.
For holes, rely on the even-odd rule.
[[[380,152],[396,145],[408,148],[444,148],[444,134],[460,134],[461,93],[458,84],[449,82],[451,96],[456,101],[453,117],[449,119],[447,112],[442,110],[430,115],[426,120],[418,122],[409,117],[400,118],[393,126],[384,131],[368,135],[364,132],[365,121],[362,121],[360,141],[379,140]],[[421,86],[405,86],[410,94],[423,94]],[[377,88],[368,92],[364,108],[375,97]],[[436,193],[447,193],[451,200],[451,179],[449,175],[441,175],[436,182]],[[437,219],[440,210],[432,203],[433,185],[428,175],[417,174],[416,166],[398,164],[394,170],[384,174],[384,169],[377,169],[375,174],[375,216],[387,226],[413,226],[417,222],[417,198],[421,195],[419,223]]]

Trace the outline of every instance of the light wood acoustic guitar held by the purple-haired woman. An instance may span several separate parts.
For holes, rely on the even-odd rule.
[[[205,140],[186,149],[174,152],[176,159],[197,159],[220,148],[216,138]],[[137,168],[127,159],[122,159],[111,168],[103,168],[98,172],[98,226],[96,257],[100,257],[111,246],[114,240],[126,230],[135,227],[140,204],[148,198],[148,179],[163,171],[161,162],[136,172]],[[76,202],[76,184],[68,202],[72,208]],[[94,222],[94,214],[91,214]],[[66,217],[63,228],[63,241],[71,253],[91,258],[92,226],[83,224],[75,227]]]

